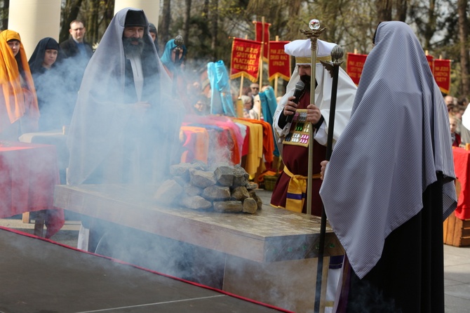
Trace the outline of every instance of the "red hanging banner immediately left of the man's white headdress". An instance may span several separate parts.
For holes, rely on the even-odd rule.
[[[290,79],[290,55],[284,52],[284,45],[289,41],[269,41],[269,81],[281,77],[288,81]]]

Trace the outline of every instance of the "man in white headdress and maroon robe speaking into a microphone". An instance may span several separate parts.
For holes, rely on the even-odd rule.
[[[320,162],[325,159],[328,138],[328,121],[333,79],[321,60],[331,60],[330,53],[335,44],[318,40],[316,49],[315,81],[311,81],[311,41],[295,40],[286,44],[285,51],[295,58],[295,69],[274,113],[273,127],[276,142],[281,151],[284,170],[279,175],[271,197],[271,206],[286,208],[289,211],[307,213],[307,172],[309,164],[309,145],[313,145],[313,181],[311,194],[313,215],[321,215],[321,199],[318,190]],[[298,81],[304,83],[304,91],[298,100],[294,98]],[[315,84],[314,102],[311,103],[311,84]],[[337,105],[333,141],[340,137],[349,121],[351,108],[356,94],[356,85],[339,69],[337,87]],[[296,103],[298,102],[298,103]],[[293,120],[288,122],[288,116]],[[309,128],[315,128],[313,138],[309,137]]]

